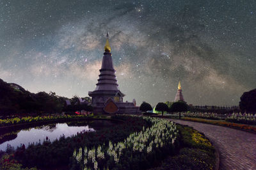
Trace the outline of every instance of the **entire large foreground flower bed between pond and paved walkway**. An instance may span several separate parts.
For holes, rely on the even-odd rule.
[[[28,148],[9,148],[0,153],[0,157],[4,154],[0,160],[8,157],[8,167],[40,169],[148,169],[160,165],[167,169],[211,169],[214,165],[214,148],[193,128],[141,116],[112,118],[124,123],[97,132],[63,136],[52,143],[46,139]]]

